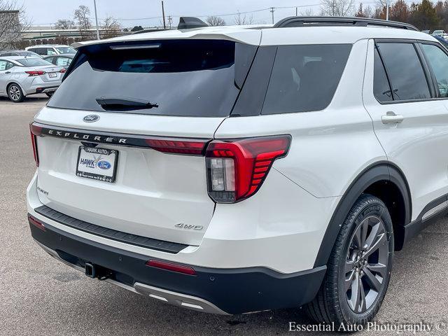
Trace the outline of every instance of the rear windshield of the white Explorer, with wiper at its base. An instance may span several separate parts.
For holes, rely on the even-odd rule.
[[[238,43],[135,43],[92,45],[79,50],[78,60],[48,106],[160,116],[230,114],[239,92],[235,68],[244,68],[235,66]]]

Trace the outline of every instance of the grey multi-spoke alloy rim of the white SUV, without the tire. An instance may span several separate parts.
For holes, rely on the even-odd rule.
[[[351,237],[344,267],[346,301],[356,314],[372,307],[388,276],[389,244],[384,223],[365,218]]]

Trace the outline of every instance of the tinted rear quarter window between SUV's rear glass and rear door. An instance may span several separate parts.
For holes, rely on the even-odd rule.
[[[351,45],[288,45],[277,50],[262,114],[319,111],[330,104]]]

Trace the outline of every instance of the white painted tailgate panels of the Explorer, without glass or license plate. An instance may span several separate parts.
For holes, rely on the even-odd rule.
[[[36,122],[55,135],[37,139],[41,202],[104,228],[180,244],[200,244],[214,212],[214,202],[207,194],[204,157],[98,144],[97,148],[118,151],[116,181],[108,183],[76,176],[82,146],[76,134],[125,139],[132,137],[132,125],[134,139],[212,139],[224,118],[97,113],[100,119],[96,123],[85,123],[83,118],[88,114],[45,108],[36,116]]]

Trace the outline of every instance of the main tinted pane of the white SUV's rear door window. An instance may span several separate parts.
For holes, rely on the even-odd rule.
[[[378,43],[394,100],[430,98],[428,82],[412,43]]]

